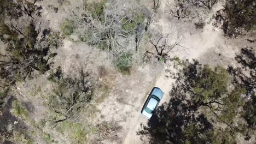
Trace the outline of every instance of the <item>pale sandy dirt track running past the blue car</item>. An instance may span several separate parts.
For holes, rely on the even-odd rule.
[[[162,22],[161,22],[162,21]],[[165,19],[159,20],[159,24],[161,23],[166,23],[164,22]],[[166,27],[166,24],[164,26],[166,29],[171,29],[172,25],[168,25]],[[177,27],[178,29],[178,27]],[[188,28],[187,28],[188,29]],[[180,33],[177,34],[179,37],[181,37],[181,41],[179,42],[179,45],[183,47],[187,47],[187,49],[183,49],[182,51],[176,51],[176,52],[170,52],[169,55],[172,56],[178,56],[179,58],[182,59],[193,59],[193,58],[200,58],[207,50],[209,49],[216,49],[219,45],[224,45],[223,43],[223,34],[222,32],[214,30],[214,27],[210,25],[206,25],[205,28],[203,29],[203,32],[195,32],[190,31],[190,32],[185,32],[185,33]],[[182,47],[177,47],[177,49],[181,49]],[[170,95],[168,93],[170,92],[172,88],[173,82],[175,82],[174,79],[172,78],[167,78],[166,75],[166,69],[172,70],[172,65],[167,66],[165,65],[164,70],[162,70],[162,73],[158,77],[158,79],[155,81],[155,84],[153,86],[159,87],[164,91],[164,97],[162,98],[161,102],[159,105],[162,103],[165,103],[169,98]],[[174,70],[173,70],[174,71]],[[136,103],[136,106],[143,106],[143,103]],[[144,125],[147,125],[148,119],[144,118],[140,110],[137,111],[132,119],[130,119],[130,127],[127,129],[127,135],[123,141],[124,144],[137,144],[137,143],[147,143],[146,140],[140,140],[139,136],[136,134],[136,131],[138,131],[141,128],[141,123]],[[133,123],[134,122],[134,123]]]

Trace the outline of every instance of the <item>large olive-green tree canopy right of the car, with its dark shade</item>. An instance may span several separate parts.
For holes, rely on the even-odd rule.
[[[237,133],[248,138],[250,129],[243,122],[255,127],[255,98],[243,97],[247,89],[223,67],[212,69],[195,60],[183,65],[170,101],[137,134],[149,135],[150,143],[236,143]]]

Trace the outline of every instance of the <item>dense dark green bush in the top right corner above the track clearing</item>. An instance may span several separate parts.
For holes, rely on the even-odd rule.
[[[216,20],[223,22],[224,33],[230,37],[245,34],[243,31],[250,31],[256,25],[255,1],[228,0],[224,9],[216,15]]]

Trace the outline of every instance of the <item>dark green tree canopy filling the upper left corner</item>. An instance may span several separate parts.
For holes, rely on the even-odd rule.
[[[31,77],[33,71],[44,73],[50,69],[50,29],[43,28],[34,17],[40,17],[37,1],[3,1],[1,9],[8,13],[1,16],[0,38],[4,42],[4,51],[0,53],[0,76],[13,85],[16,81]],[[7,4],[8,3],[8,4]],[[21,22],[22,21],[22,22]]]

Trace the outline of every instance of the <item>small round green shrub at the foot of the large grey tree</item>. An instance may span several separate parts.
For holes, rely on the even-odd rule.
[[[122,53],[117,58],[115,65],[124,74],[130,74],[132,64],[132,54],[131,53]]]

